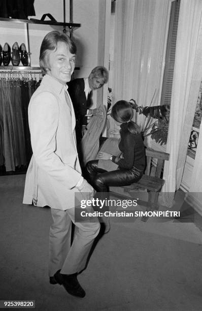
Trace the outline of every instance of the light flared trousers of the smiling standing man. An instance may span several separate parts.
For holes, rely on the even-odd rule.
[[[53,224],[49,234],[49,276],[61,269],[62,274],[73,274],[83,270],[92,246],[99,233],[97,222],[75,223],[75,209],[66,210],[51,208]],[[71,245],[72,222],[75,224],[75,235]]]

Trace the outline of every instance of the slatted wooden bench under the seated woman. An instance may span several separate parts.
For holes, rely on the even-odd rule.
[[[131,193],[138,191],[138,189],[144,189],[148,192],[148,202],[147,210],[158,209],[158,194],[162,189],[162,186],[165,182],[162,179],[162,168],[164,161],[168,161],[170,154],[156,151],[151,148],[146,148],[146,168],[142,178],[135,183],[130,185],[121,186],[124,189],[124,192]],[[152,161],[154,159],[154,161]],[[119,188],[119,187],[118,187]],[[112,192],[111,194],[118,195],[118,192]],[[120,194],[119,194],[120,195]],[[118,196],[119,196],[118,195]],[[145,220],[146,221],[146,220]]]

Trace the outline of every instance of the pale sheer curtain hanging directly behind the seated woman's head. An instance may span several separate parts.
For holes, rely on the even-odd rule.
[[[159,105],[169,0],[117,0],[114,102]]]

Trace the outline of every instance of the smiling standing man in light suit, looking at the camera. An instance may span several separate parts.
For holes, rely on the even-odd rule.
[[[63,33],[48,33],[41,45],[41,85],[28,107],[33,155],[27,170],[25,204],[50,206],[53,224],[49,236],[51,284],[63,285],[68,293],[84,297],[77,274],[86,265],[98,220],[75,223],[75,193],[84,200],[93,188],[81,175],[75,140],[75,114],[67,91],[75,68],[76,46]],[[71,245],[71,224],[76,235]]]

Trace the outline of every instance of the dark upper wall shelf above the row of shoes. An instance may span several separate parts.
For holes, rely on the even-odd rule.
[[[31,19],[16,19],[16,18],[0,18],[0,21],[13,22],[13,23],[26,23],[26,24],[41,24],[41,25],[52,25],[52,26],[65,26],[71,27],[74,30],[81,27],[81,24],[78,23],[63,23],[63,22],[54,22],[52,20],[31,20]]]

